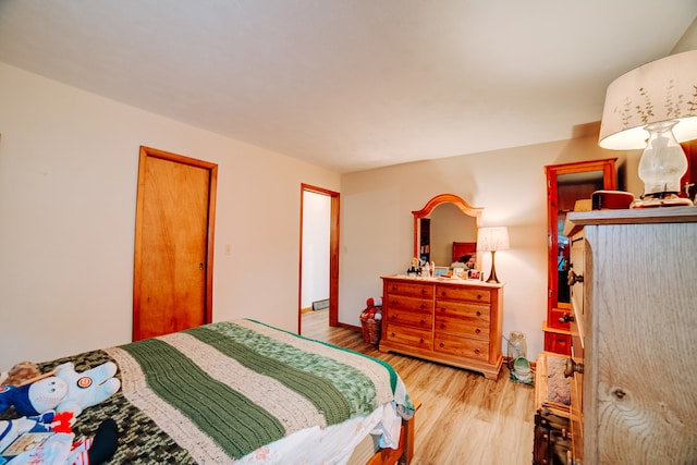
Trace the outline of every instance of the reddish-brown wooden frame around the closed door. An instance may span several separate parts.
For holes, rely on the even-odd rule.
[[[206,237],[206,302],[204,305],[204,321],[209,323],[212,321],[213,310],[213,244],[216,232],[216,192],[218,191],[218,164],[208,161],[197,160],[185,157],[183,155],[171,154],[169,151],[159,150],[157,148],[140,146],[138,160],[138,186],[136,197],[135,212],[135,247],[133,264],[133,334],[132,339],[138,333],[137,328],[140,313],[140,276],[143,273],[143,224],[140,219],[145,208],[145,174],[148,158],[159,158],[161,160],[172,161],[175,163],[187,164],[196,168],[208,170],[210,174],[210,183],[208,186],[208,229]]]

